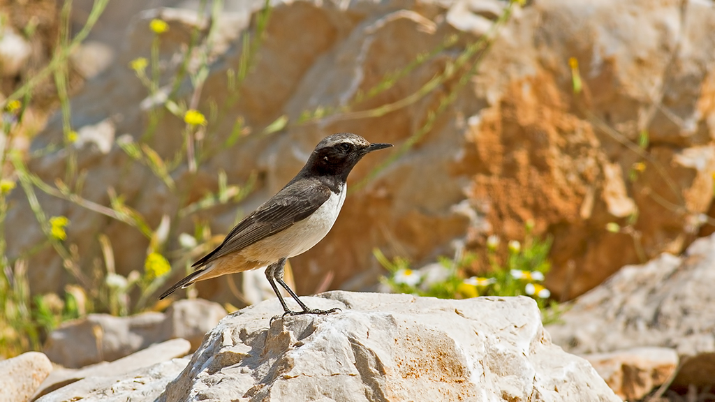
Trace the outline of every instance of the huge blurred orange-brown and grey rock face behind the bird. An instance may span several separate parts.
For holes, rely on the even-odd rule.
[[[227,7],[235,12],[222,14],[219,21],[222,28],[199,109],[208,110],[210,102],[230,104],[227,72],[238,69],[242,32],[255,19],[249,9],[231,2]],[[448,35],[460,34],[453,48],[438,52],[353,110],[408,97],[478,40],[502,8],[497,1],[451,6],[396,0],[277,4],[240,99],[204,144],[221,147],[237,116],[245,118],[254,134],[240,147],[204,162],[198,180],[182,180],[185,168],[177,170],[174,180],[189,188],[189,198],[199,199],[217,187],[218,170],[225,170],[231,183],[257,173],[257,191],[242,205],[204,215],[214,232],[227,233],[237,213],[250,212],[285,185],[328,134],[355,132],[399,148],[456,82],[444,82],[417,102],[378,117],[289,124],[270,135],[260,131],[283,114],[297,122],[305,110],[343,106],[385,74],[440,46]],[[189,41],[193,26],[202,24],[192,15],[164,9],[135,17],[112,66],[72,100],[73,127],[78,132],[104,127],[105,133],[139,139],[149,124],[150,107],[148,102],[141,106],[147,90],[127,64],[148,57],[148,22],[159,17],[171,27],[160,49],[164,78],[175,74],[175,55]],[[379,268],[373,247],[428,260],[449,253],[454,240],[479,247],[492,233],[521,239],[526,220],[536,223],[537,233],[554,237],[554,268],[547,285],[564,298],[593,288],[639,258],[678,253],[696,235],[703,222],[699,214],[709,210],[713,195],[712,31],[715,10],[701,2],[681,7],[676,1],[548,0],[516,10],[477,74],[433,128],[367,186],[351,192],[330,234],[291,260],[299,293],[312,293],[327,275],[332,275],[330,288],[360,289],[374,283]],[[569,65],[571,58],[578,66]],[[574,70],[581,80],[579,91],[574,90]],[[188,83],[182,90],[188,97]],[[182,147],[183,122],[167,116],[150,144],[168,158]],[[642,137],[649,139],[648,144],[641,141],[645,152],[638,146]],[[60,139],[57,116],[33,146],[39,149]],[[116,144],[82,144],[78,167],[87,171],[84,197],[107,205],[112,187],[152,227],[164,212],[177,210],[178,200],[148,169],[129,164]],[[389,154],[365,158],[348,186],[385,157]],[[55,152],[31,161],[31,168],[52,182],[56,172],[64,171],[65,158],[64,152]],[[634,165],[638,163],[643,165]],[[6,236],[11,256],[43,237],[21,201],[24,195],[14,195],[6,230],[22,230]],[[117,270],[127,273],[143,265],[147,240],[136,230],[69,203],[40,200],[48,215],[69,217],[67,241],[77,244],[85,265],[99,255],[98,232],[111,240]],[[605,228],[609,222],[626,225],[629,218],[634,222],[630,233]],[[191,232],[192,225],[180,222],[176,232]],[[55,290],[63,281],[61,261],[52,253],[36,255],[30,266],[36,292]],[[230,298],[225,279],[199,289],[205,297]]]

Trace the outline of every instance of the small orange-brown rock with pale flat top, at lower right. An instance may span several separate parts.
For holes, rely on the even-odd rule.
[[[641,400],[678,368],[678,353],[670,348],[632,348],[582,357],[623,401]]]

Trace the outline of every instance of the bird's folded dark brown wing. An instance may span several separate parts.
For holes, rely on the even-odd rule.
[[[201,267],[287,229],[295,222],[309,217],[328,198],[330,198],[330,188],[325,185],[287,185],[239,222],[220,246],[204,255],[192,267]]]

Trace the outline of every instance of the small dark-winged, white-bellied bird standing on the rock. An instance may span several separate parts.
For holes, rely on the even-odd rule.
[[[159,299],[200,280],[266,267],[266,278],[280,300],[283,316],[334,313],[337,308],[308,308],[298,298],[283,280],[285,263],[310,250],[330,231],[345,201],[347,175],[352,168],[368,153],[392,146],[370,143],[349,132],[325,137],[285,187],[241,220],[218,247],[192,265],[193,273]],[[302,310],[288,308],[276,283],[290,293]]]

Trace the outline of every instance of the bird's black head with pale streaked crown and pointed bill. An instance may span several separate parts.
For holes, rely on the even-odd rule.
[[[317,144],[305,168],[312,174],[334,175],[342,180],[365,155],[392,144],[370,144],[367,139],[350,132],[332,134]]]

